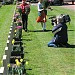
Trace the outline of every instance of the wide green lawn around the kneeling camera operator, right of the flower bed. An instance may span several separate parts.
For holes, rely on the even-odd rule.
[[[68,25],[68,43],[75,47],[75,12],[53,6],[53,11],[48,15],[69,14],[71,23]],[[31,6],[29,14],[28,30],[23,31],[23,45],[25,59],[29,62],[26,66],[27,75],[74,75],[75,73],[75,48],[51,48],[47,43],[52,39],[53,26],[47,20],[48,32],[40,32],[42,27],[36,22],[38,12],[36,6]],[[49,18],[49,16],[48,16]],[[31,70],[30,70],[31,69]]]

